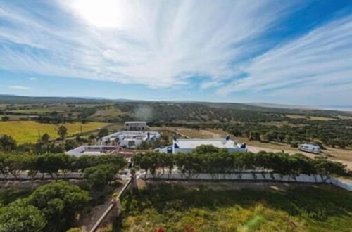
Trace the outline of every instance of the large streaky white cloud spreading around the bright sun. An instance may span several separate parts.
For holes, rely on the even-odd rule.
[[[54,23],[51,13],[3,4],[0,18],[11,27],[0,25],[0,68],[152,88],[208,77],[204,88],[232,79],[233,63],[294,11],[292,2],[275,3],[66,0],[56,1]]]

